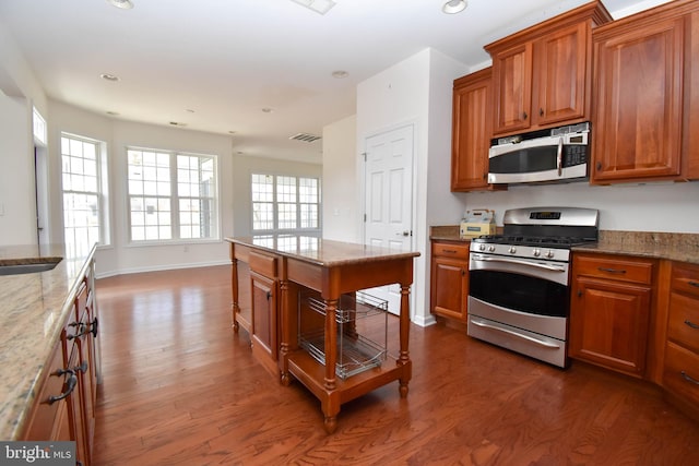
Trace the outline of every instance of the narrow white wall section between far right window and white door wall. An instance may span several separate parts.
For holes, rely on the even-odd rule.
[[[356,116],[323,128],[322,236],[325,239],[362,241],[356,134]]]

